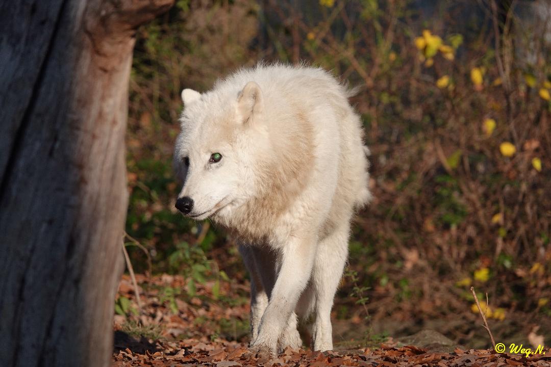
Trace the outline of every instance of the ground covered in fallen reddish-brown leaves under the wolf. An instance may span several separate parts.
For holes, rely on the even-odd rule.
[[[214,283],[199,284],[189,299],[175,297],[186,287],[180,276],[161,275],[147,278],[138,275],[142,309],[127,276],[123,277],[117,304],[130,301],[126,310],[115,316],[115,350],[112,366],[541,366],[551,367],[551,349],[527,358],[520,354],[497,353],[488,349],[450,353],[399,347],[388,339],[378,348],[334,350],[325,353],[287,348],[278,358],[247,359],[246,325],[249,306],[244,297],[247,287],[225,283],[220,294],[240,294],[235,299],[213,298]],[[231,289],[230,289],[231,288]],[[233,322],[228,322],[233,320]],[[219,325],[230,325],[222,330]],[[237,330],[237,324],[240,330]],[[233,325],[233,331],[231,330]],[[233,340],[229,340],[233,339]]]

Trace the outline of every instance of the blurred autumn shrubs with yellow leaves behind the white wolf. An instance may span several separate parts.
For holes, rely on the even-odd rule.
[[[306,61],[363,86],[351,101],[371,150],[375,199],[354,221],[334,317],[372,335],[433,327],[476,345],[475,286],[496,340],[520,343],[551,316],[545,14],[545,1],[178,0],[134,53],[134,268],[185,276],[184,297],[197,282],[246,282],[223,229],[174,209],[180,91],[261,59]]]

